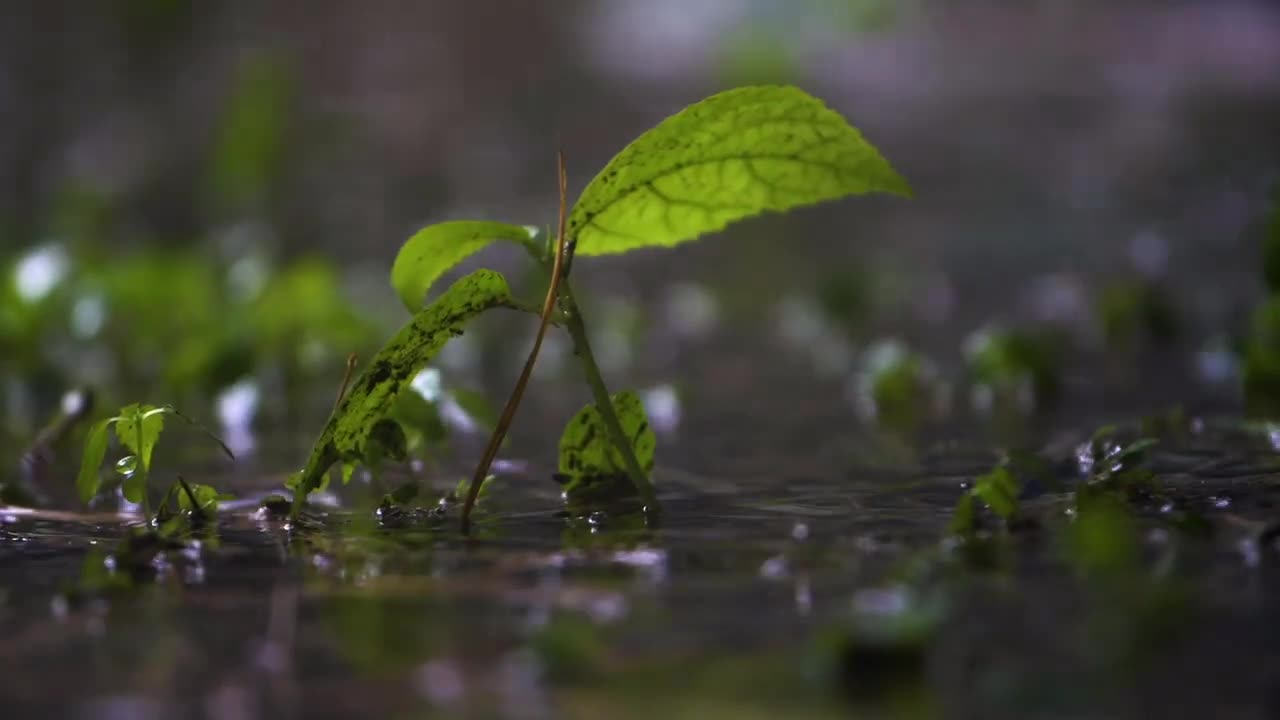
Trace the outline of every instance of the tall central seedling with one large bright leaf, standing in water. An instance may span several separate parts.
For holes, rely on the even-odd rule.
[[[294,515],[334,464],[364,461],[371,429],[392,410],[404,384],[452,336],[461,334],[471,318],[493,307],[536,313],[541,324],[476,477],[485,477],[527,384],[540,338],[554,320],[568,332],[581,360],[594,398],[590,423],[600,429],[573,446],[580,459],[607,460],[603,468],[582,466],[568,474],[581,479],[599,470],[621,471],[645,509],[657,511],[649,480],[652,433],[644,432],[648,421],[639,404],[620,407],[626,395],[609,393],[588,342],[582,307],[568,282],[573,258],[669,247],[753,215],[849,195],[911,195],[906,181],[861,133],[817,97],[790,86],[740,87],[685,108],[618,152],[572,208],[564,201],[563,170],[559,178],[562,211],[553,243],[545,238],[538,242],[536,231],[525,225],[470,220],[426,227],[404,243],[392,268],[392,286],[413,318],[356,378],[306,465],[291,479]],[[548,273],[549,288],[540,309],[515,300],[503,277],[486,269],[463,277],[424,306],[442,274],[499,240],[522,246]],[[465,507],[463,528],[468,520]]]

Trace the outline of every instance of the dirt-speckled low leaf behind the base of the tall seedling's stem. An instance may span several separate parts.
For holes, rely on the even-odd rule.
[[[649,427],[640,397],[635,392],[623,391],[612,400],[622,432],[631,439],[636,460],[645,473],[652,471],[658,438]],[[626,473],[626,461],[609,442],[604,419],[594,404],[580,410],[564,427],[559,445],[559,471],[571,478]]]

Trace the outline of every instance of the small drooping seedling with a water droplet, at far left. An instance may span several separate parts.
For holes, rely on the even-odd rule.
[[[141,503],[143,514],[150,516],[147,478],[151,475],[151,454],[155,450],[156,442],[160,441],[160,433],[164,430],[164,419],[166,416],[186,420],[187,424],[200,429],[218,443],[218,447],[228,457],[232,460],[236,459],[230,448],[227,447],[227,443],[175,409],[170,406],[138,405],[134,402],[133,405],[122,407],[119,415],[99,420],[90,428],[88,437],[84,439],[84,457],[81,461],[79,475],[76,478],[76,488],[79,492],[81,501],[88,502],[93,500],[93,496],[97,495],[97,491],[102,486],[99,469],[102,465],[102,459],[106,457],[108,430],[111,425],[115,425],[115,437],[131,452],[131,455],[125,455],[115,464],[115,470],[124,477],[124,486],[122,488],[124,498],[129,502]],[[195,486],[197,491],[195,493],[192,492],[192,487],[186,486],[186,483],[182,483],[182,486],[184,486],[184,495],[188,496],[191,506],[196,511],[202,512],[207,510],[207,502],[201,501],[201,497],[207,500],[210,493],[212,493],[211,497],[218,498],[216,491],[205,486]],[[174,492],[170,489],[165,498],[168,500],[173,495]]]

